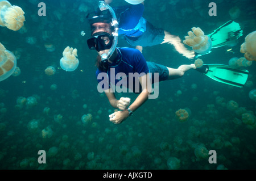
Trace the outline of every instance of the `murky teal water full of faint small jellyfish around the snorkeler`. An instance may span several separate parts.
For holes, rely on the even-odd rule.
[[[39,2],[46,3],[47,16],[38,16]],[[209,2],[216,2],[217,16],[208,15]],[[21,70],[18,77],[0,82],[0,169],[256,169],[255,124],[242,119],[250,113],[256,121],[255,101],[249,98],[256,84],[256,62],[247,68],[250,75],[242,89],[193,70],[181,79],[160,82],[158,99],[147,100],[132,117],[115,125],[108,117],[114,109],[97,91],[97,52],[86,45],[86,15],[96,9],[97,1],[10,3],[22,7],[26,22],[16,32],[0,27],[0,42],[15,54]],[[114,0],[111,5],[125,4]],[[254,0],[146,0],[144,5],[144,18],[182,40],[192,27],[208,35],[228,20],[240,23],[243,36],[238,44],[201,56],[205,64],[228,64],[232,57],[243,57],[240,45],[256,30]],[[59,65],[67,46],[78,50],[80,64],[72,72]],[[129,44],[120,36],[118,46]],[[193,62],[170,44],[144,47],[143,55],[172,68]],[[46,75],[48,66],[56,68],[54,75]],[[30,104],[17,103],[19,97],[31,96],[36,103],[34,98]],[[134,100],[137,95],[121,96]],[[183,123],[175,117],[180,108],[189,111]],[[88,113],[92,121],[82,123]],[[42,136],[43,130],[48,136]],[[217,151],[217,164],[208,162],[205,149]],[[39,150],[46,150],[46,164],[38,163]]]

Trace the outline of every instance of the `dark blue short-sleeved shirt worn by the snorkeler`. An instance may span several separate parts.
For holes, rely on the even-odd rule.
[[[102,72],[97,69],[98,86],[103,90],[110,89],[110,85],[125,86],[133,92],[138,92],[138,77],[149,72],[145,58],[139,50],[133,48],[117,48],[117,52],[117,61],[109,64],[107,71]],[[136,90],[135,87],[137,87]],[[115,90],[114,87],[113,90]]]

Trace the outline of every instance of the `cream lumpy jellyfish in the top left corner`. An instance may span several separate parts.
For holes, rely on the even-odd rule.
[[[0,26],[18,31],[25,21],[24,11],[8,1],[0,1]]]

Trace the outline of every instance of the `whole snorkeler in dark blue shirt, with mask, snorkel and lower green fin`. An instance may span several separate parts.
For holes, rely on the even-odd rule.
[[[237,87],[245,85],[249,73],[247,70],[237,70],[218,64],[203,65],[199,69],[195,64],[181,65],[177,69],[168,68],[146,61],[138,49],[117,48],[118,23],[114,10],[104,1],[100,2],[100,6],[103,7],[101,12],[104,13],[88,18],[92,37],[87,40],[87,44],[90,50],[95,49],[98,52],[96,60],[98,90],[99,87],[104,90],[111,106],[119,109],[109,115],[109,120],[113,123],[122,123],[142,106],[150,98],[154,83],[183,77],[184,73],[191,69],[196,69],[215,81],[228,85]],[[110,16],[112,18],[109,18]],[[139,83],[139,87],[136,82]],[[131,104],[130,98],[122,97],[118,100],[114,94],[115,87],[118,86],[131,88],[129,92],[139,95]]]

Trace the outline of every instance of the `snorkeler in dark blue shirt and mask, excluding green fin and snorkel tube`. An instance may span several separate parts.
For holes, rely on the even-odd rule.
[[[104,13],[108,13],[109,10],[104,10]],[[114,19],[114,18],[113,18]],[[110,121],[115,124],[122,123],[123,120],[127,119],[130,115],[136,111],[151,94],[152,86],[151,83],[166,81],[169,79],[180,78],[184,73],[190,69],[196,69],[194,64],[191,65],[181,65],[177,69],[168,68],[167,66],[155,64],[154,62],[147,62],[143,57],[142,53],[133,48],[116,48],[116,41],[114,39],[115,33],[118,30],[117,27],[112,26],[115,24],[111,22],[109,16],[94,15],[93,18],[88,19],[92,28],[92,37],[87,40],[88,47],[91,50],[96,50],[98,52],[97,57],[97,71],[96,76],[99,85],[104,81],[104,75],[108,77],[107,84],[103,84],[101,88],[104,90],[106,96],[109,99],[109,103],[112,107],[118,108],[119,111],[109,115]],[[114,34],[113,34],[114,32]],[[109,54],[109,52],[113,52]],[[129,73],[138,73],[138,77],[134,77],[132,81],[127,78]],[[151,81],[148,81],[150,79]],[[154,73],[158,73],[158,77],[154,77]],[[118,75],[122,74],[120,77]],[[103,75],[103,76],[101,76]],[[115,79],[118,77],[118,79]],[[126,84],[122,86],[127,88],[136,86],[131,86],[131,83],[139,82],[140,89],[137,99],[130,104],[130,98],[120,98],[117,100],[115,98],[113,85],[118,86],[118,83],[126,78]],[[112,80],[115,80],[114,82]],[[136,90],[132,90],[137,92]]]

